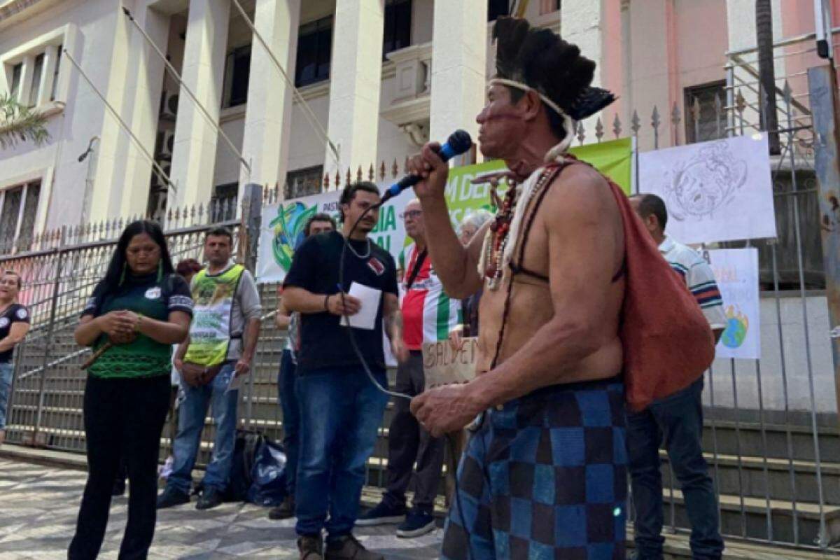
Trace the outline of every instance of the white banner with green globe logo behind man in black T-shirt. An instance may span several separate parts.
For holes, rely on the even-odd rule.
[[[384,191],[386,186],[380,185],[380,191]],[[260,248],[257,252],[257,281],[282,282],[286,278],[292,255],[302,243],[307,220],[319,212],[325,212],[339,222],[340,194],[340,191],[322,192],[263,207]],[[412,191],[405,191],[386,202],[380,209],[379,222],[370,233],[370,239],[391,253],[395,261],[406,238],[402,211],[413,196]]]

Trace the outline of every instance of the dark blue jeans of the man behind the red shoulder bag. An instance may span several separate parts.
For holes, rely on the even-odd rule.
[[[659,445],[668,451],[680,481],[691,523],[695,558],[720,558],[723,540],[718,529],[717,498],[703,458],[703,378],[642,412],[627,412],[627,454],[636,506],[635,540],[639,560],[662,558],[662,474]]]

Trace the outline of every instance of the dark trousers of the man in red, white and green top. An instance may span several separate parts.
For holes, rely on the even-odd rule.
[[[412,350],[408,361],[396,369],[394,390],[415,396],[423,393],[425,387],[423,353]],[[434,498],[438,495],[440,469],[444,465],[445,440],[443,437],[432,437],[420,426],[409,410],[409,404],[406,399],[394,400],[394,416],[388,432],[388,489],[383,500],[391,505],[405,505],[406,490],[416,461],[412,505],[431,513]]]

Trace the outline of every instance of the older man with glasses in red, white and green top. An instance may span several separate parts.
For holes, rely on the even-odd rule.
[[[423,343],[449,338],[449,331],[461,322],[461,303],[444,293],[444,285],[432,269],[420,201],[409,202],[402,216],[406,234],[414,242],[400,254],[397,273],[402,278],[403,289],[402,335],[411,356],[396,370],[395,390],[414,396],[423,393],[426,385]],[[409,511],[406,489],[415,462],[414,499]],[[402,537],[432,531],[432,510],[443,463],[444,438],[431,437],[412,415],[409,402],[396,399],[388,432],[388,489],[380,504],[360,516],[356,525],[400,523],[396,535]]]

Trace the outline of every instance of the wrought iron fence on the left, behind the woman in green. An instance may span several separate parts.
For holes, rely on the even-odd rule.
[[[204,233],[215,225],[239,228],[234,220],[208,223],[207,214],[175,212],[166,233],[173,261],[201,259]],[[84,302],[105,273],[119,233],[132,220],[84,228],[60,228],[37,236],[34,251],[0,258],[0,267],[23,280],[20,301],[29,306],[33,328],[15,352],[9,402],[8,442],[84,450],[81,398],[87,349],[73,338]],[[234,236],[237,238],[238,236]]]

